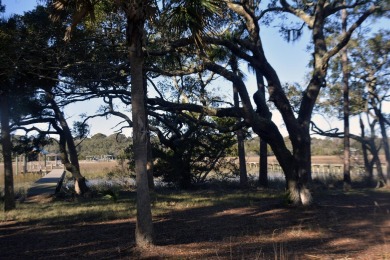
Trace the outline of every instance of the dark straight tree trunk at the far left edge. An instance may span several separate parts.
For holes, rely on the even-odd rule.
[[[14,177],[12,172],[12,143],[9,127],[9,96],[0,94],[1,144],[4,159],[4,211],[15,209]]]

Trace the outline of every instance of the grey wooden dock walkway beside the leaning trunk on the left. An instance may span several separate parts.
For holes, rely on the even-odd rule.
[[[27,191],[27,197],[37,195],[54,195],[61,189],[65,177],[64,169],[53,169],[41,179],[34,182]]]

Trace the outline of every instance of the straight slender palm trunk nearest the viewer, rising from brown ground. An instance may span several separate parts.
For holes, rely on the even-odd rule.
[[[145,111],[145,90],[143,80],[144,57],[142,41],[145,23],[144,0],[129,1],[126,8],[126,40],[129,48],[131,104],[133,118],[133,145],[135,173],[137,182],[137,223],[135,241],[139,247],[148,247],[154,243],[152,211],[148,186],[148,127]]]

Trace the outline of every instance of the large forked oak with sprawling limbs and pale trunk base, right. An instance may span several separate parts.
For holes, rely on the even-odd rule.
[[[225,65],[213,61],[212,58],[207,56],[207,52],[194,53],[190,49],[185,49],[185,46],[188,46],[191,43],[197,44],[196,41],[191,42],[190,39],[185,38],[174,41],[175,38],[172,37],[171,41],[162,41],[164,42],[163,46],[166,46],[165,50],[166,52],[169,51],[169,53],[172,53],[173,49],[178,51],[183,51],[185,49],[187,51],[186,54],[190,54],[188,57],[191,57],[192,59],[198,55],[198,62],[195,62],[192,65],[186,64],[185,70],[182,69],[181,73],[191,73],[191,71],[193,73],[206,69],[213,73],[218,73],[236,84],[243,104],[243,108],[240,111],[241,116],[244,118],[245,122],[252,127],[253,131],[266,140],[273,149],[274,154],[278,158],[285,173],[287,187],[292,202],[294,204],[310,204],[311,195],[308,189],[308,183],[311,178],[310,121],[320,90],[325,87],[329,60],[347,44],[354,30],[370,15],[379,11],[381,6],[372,1],[356,1],[351,2],[348,5],[343,5],[339,1],[318,1],[316,3],[299,2],[293,4],[289,4],[287,1],[275,1],[273,2],[274,5],[261,10],[260,2],[258,1],[222,2],[227,6],[230,13],[227,12],[226,14],[229,15],[225,14],[221,16],[223,18],[218,16],[214,17],[213,23],[209,23],[208,25],[213,24],[219,27],[212,27],[213,29],[210,29],[209,31],[214,33],[201,35],[202,38],[198,39],[197,42],[202,41],[210,44],[210,48],[212,48],[213,45],[224,46],[239,59],[245,60],[251,67],[258,70],[259,75],[265,77],[269,100],[275,104],[282,115],[292,142],[292,152],[290,152],[284,144],[283,137],[276,125],[267,118],[266,115],[269,114],[269,111],[267,110],[268,106],[263,99],[260,99],[258,95],[255,95],[254,98],[258,107],[265,108],[265,110],[263,109],[260,110],[259,113],[256,113],[248,95],[248,90],[240,78],[234,75],[232,71],[226,69]],[[329,21],[332,21],[332,18],[340,10],[346,8],[350,10],[359,9],[361,12],[355,16],[355,19],[351,22],[351,25],[346,32],[338,37],[336,44],[328,45],[325,32],[331,28]],[[299,19],[301,24],[306,25],[312,33],[312,73],[308,85],[302,92],[300,107],[296,113],[293,111],[290,101],[283,90],[277,72],[268,62],[266,53],[264,53],[263,50],[259,21],[264,19],[264,17],[267,17],[270,12],[290,14],[296,17],[296,19]],[[229,23],[229,20],[223,21],[223,19],[231,17],[240,17],[240,19],[235,20],[239,22]],[[237,24],[239,26],[237,26]],[[298,29],[300,27],[298,27]],[[299,33],[297,33],[299,30],[295,28],[284,28],[284,31],[291,37],[299,35]],[[158,55],[159,53],[161,53],[161,51],[155,51],[154,49],[151,49],[149,52],[150,55]],[[184,53],[182,54],[184,55]],[[184,61],[187,60],[181,59],[183,65]],[[183,65],[182,68],[184,68]],[[160,71],[162,70],[161,68],[159,69]],[[159,69],[156,68],[156,71]],[[222,114],[222,110],[212,110],[210,112],[213,114]]]

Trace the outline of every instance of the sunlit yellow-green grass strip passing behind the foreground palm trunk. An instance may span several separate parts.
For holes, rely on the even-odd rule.
[[[135,192],[98,193],[93,198],[71,196],[54,198],[42,202],[18,202],[15,210],[0,214],[0,221],[17,222],[71,222],[106,221],[135,217]],[[256,191],[164,191],[151,194],[153,215],[172,210],[230,205],[231,207],[253,206],[264,198],[280,196]],[[3,203],[0,203],[3,207]]]

